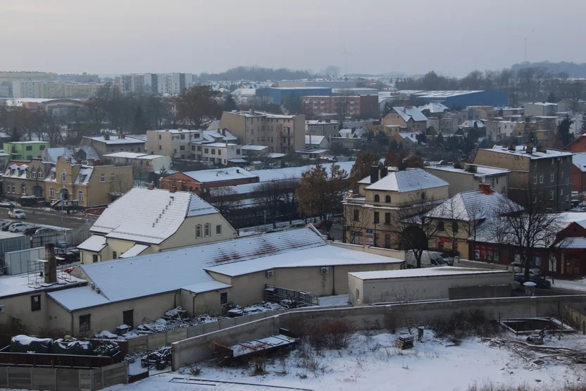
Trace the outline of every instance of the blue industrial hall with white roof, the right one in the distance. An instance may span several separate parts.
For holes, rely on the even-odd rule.
[[[426,102],[439,101],[451,109],[466,106],[507,106],[509,93],[501,91],[423,91],[412,94]]]

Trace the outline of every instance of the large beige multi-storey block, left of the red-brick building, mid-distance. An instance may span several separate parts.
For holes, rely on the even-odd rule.
[[[292,153],[305,147],[305,116],[261,111],[224,111],[220,128],[230,130],[242,145],[264,145],[269,153]]]

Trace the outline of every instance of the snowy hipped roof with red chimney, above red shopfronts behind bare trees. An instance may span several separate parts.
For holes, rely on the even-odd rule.
[[[482,190],[470,190],[461,192],[454,197],[447,199],[434,209],[429,211],[428,217],[446,218],[456,221],[478,221],[483,218],[495,216],[499,206],[504,205],[511,208],[516,204],[506,200],[506,197],[499,192],[483,192]],[[521,206],[516,206],[522,210]]]

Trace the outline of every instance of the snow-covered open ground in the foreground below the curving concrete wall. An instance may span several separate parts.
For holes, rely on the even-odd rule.
[[[189,368],[163,373],[111,391],[158,390],[468,390],[472,385],[528,385],[532,390],[561,390],[583,384],[585,367],[561,364],[544,358],[534,364],[507,348],[490,347],[478,338],[461,345],[439,340],[430,331],[413,349],[394,347],[398,335],[356,333],[347,349],[322,350],[301,345],[288,354],[267,359],[265,374],[254,376],[254,364],[216,368],[201,363],[201,373],[190,376]],[[507,335],[511,337],[511,335]],[[582,335],[561,340],[546,337],[545,345],[586,347]],[[526,354],[525,354],[526,356]]]

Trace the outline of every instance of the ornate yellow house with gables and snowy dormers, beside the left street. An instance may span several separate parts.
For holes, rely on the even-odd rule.
[[[60,156],[44,179],[45,197],[54,204],[107,205],[132,188],[132,166],[83,166]]]

